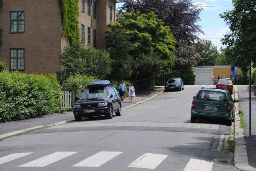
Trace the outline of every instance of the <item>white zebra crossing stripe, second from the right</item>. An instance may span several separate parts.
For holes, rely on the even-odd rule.
[[[128,167],[155,169],[166,157],[167,155],[146,153],[137,158],[134,162],[128,165]]]

